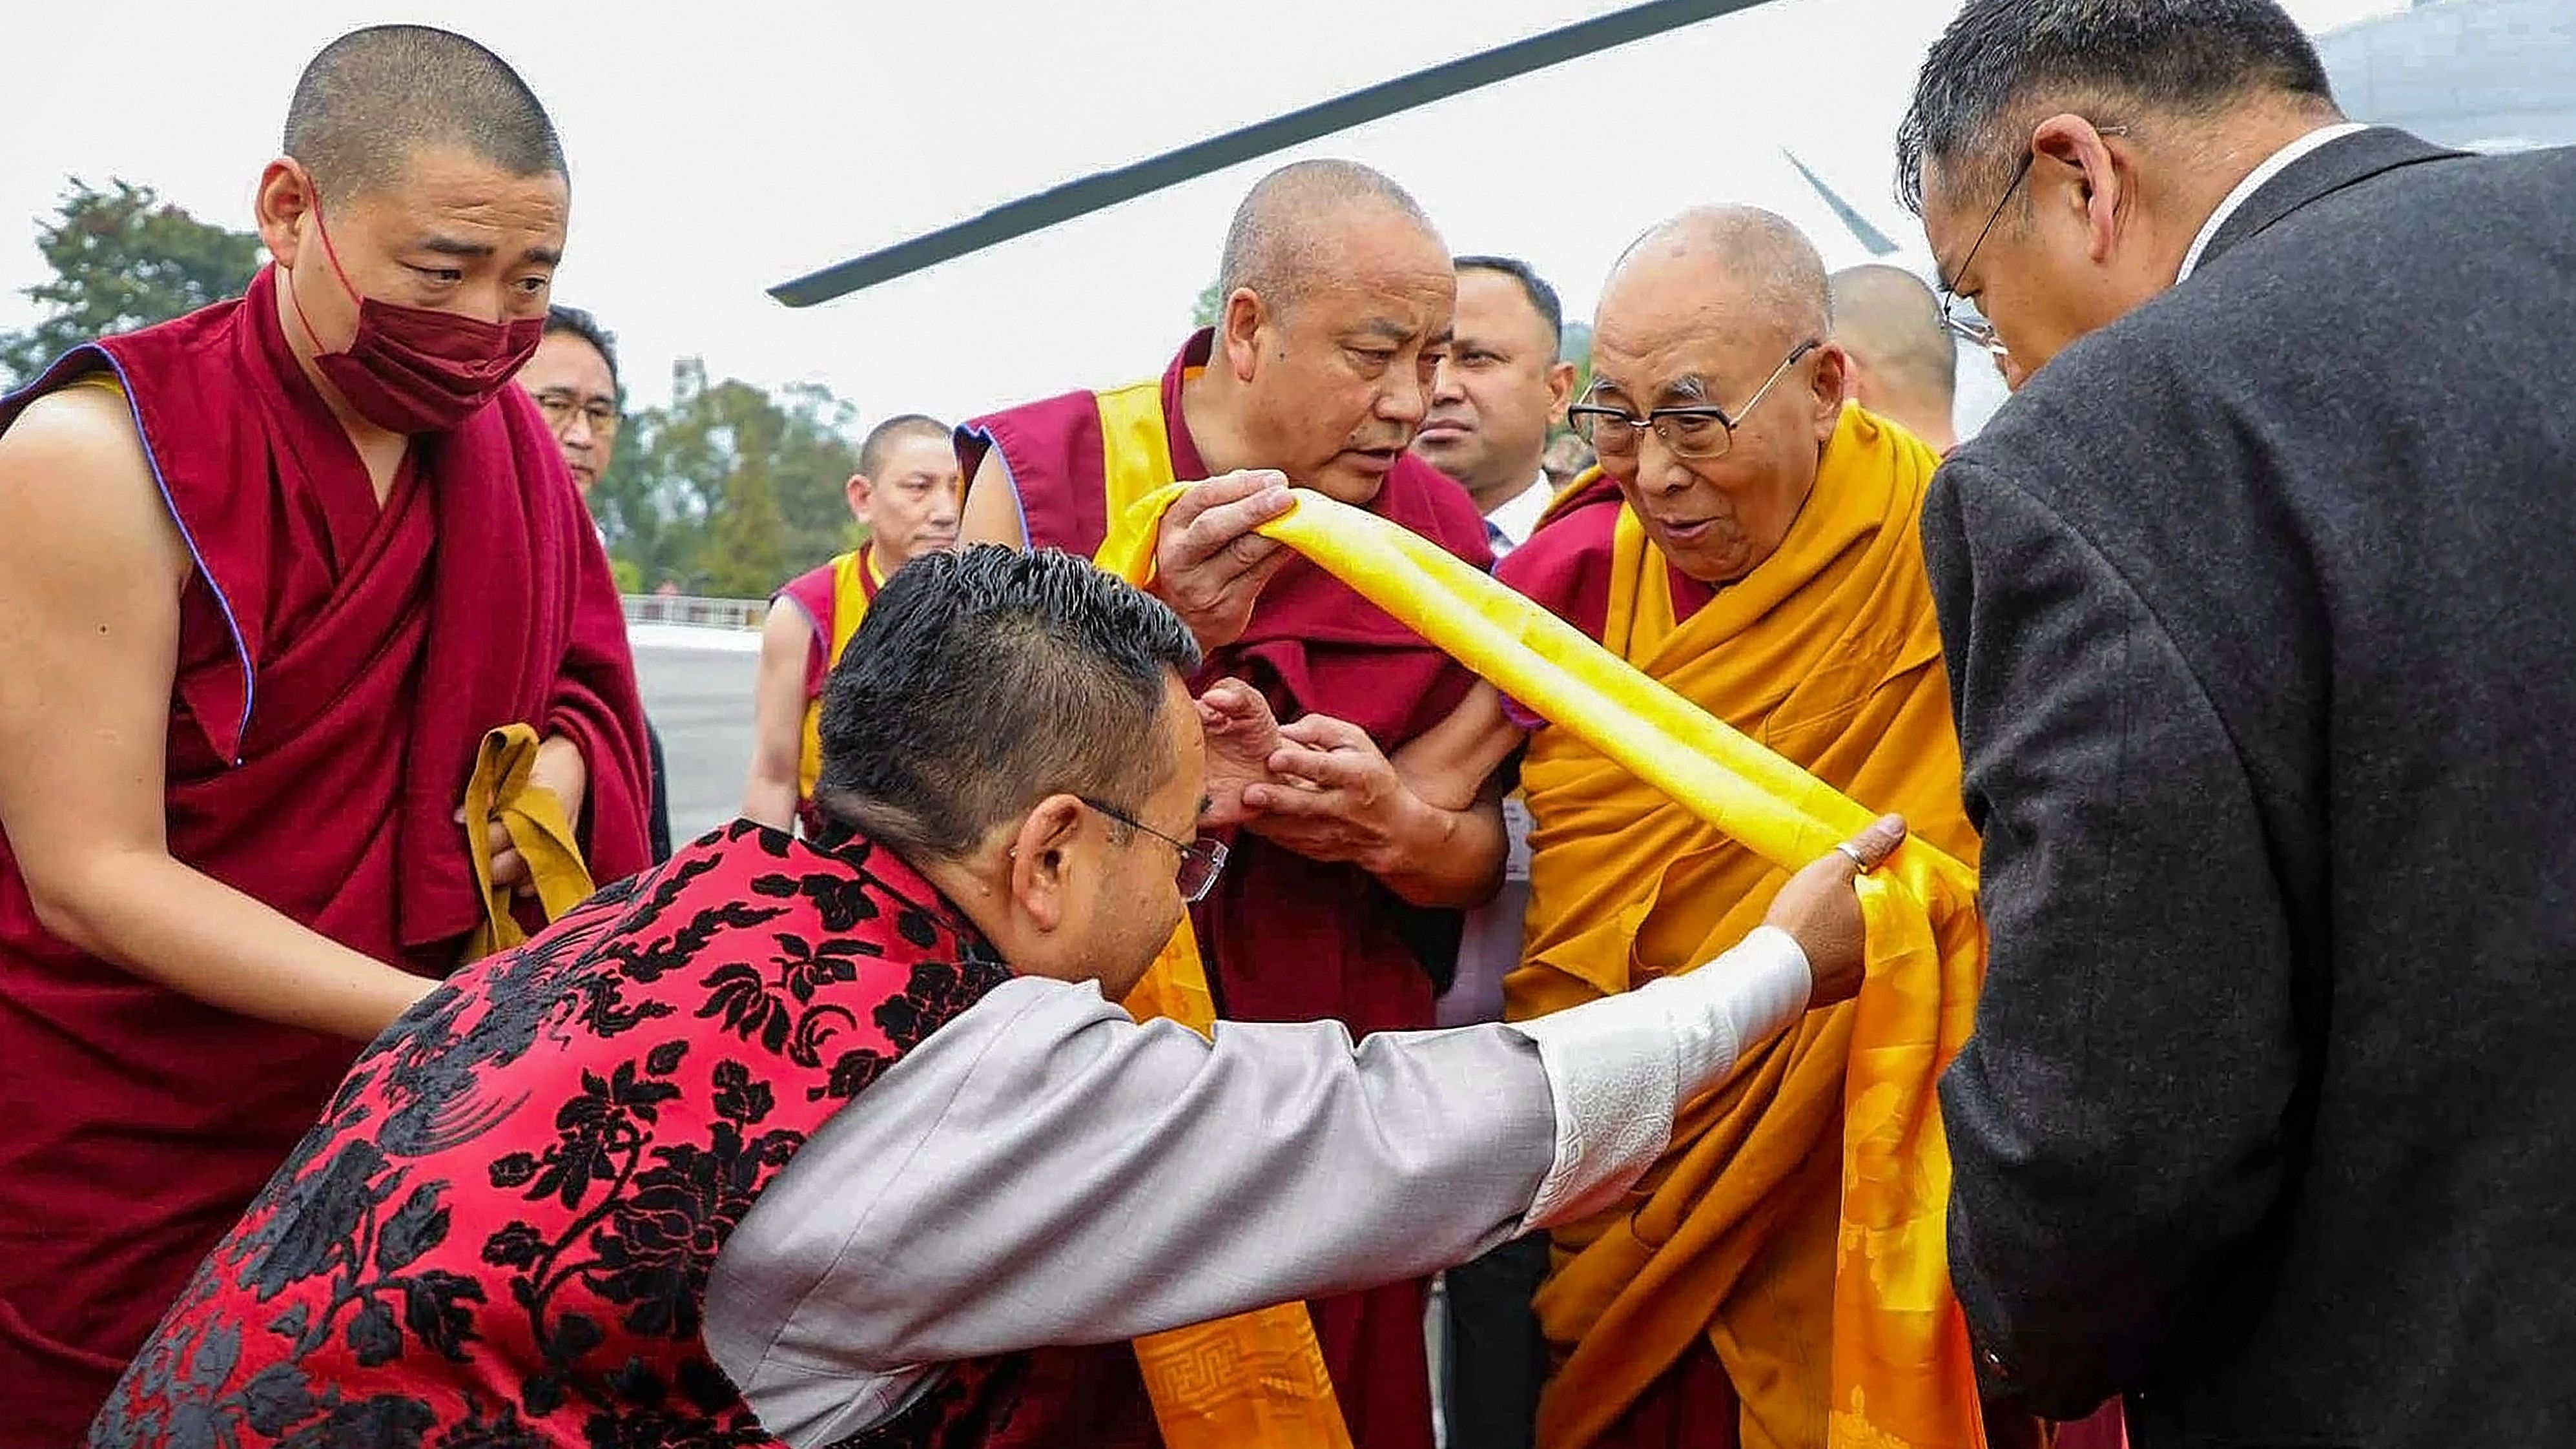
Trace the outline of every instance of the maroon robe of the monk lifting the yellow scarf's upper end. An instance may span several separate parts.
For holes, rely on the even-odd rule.
[[[1162,378],[1177,479],[1208,476],[1180,389],[1208,363],[1211,347],[1211,332],[1190,337]],[[979,417],[958,430],[969,479],[987,450],[999,450],[1010,468],[1030,546],[1100,548],[1108,510],[1092,394]],[[1466,489],[1419,458],[1404,456],[1368,510],[1479,569],[1492,564],[1484,517]],[[1244,636],[1213,651],[1195,685],[1226,674],[1257,687],[1283,721],[1334,715],[1365,728],[1388,754],[1448,718],[1473,685],[1453,659],[1303,558],[1280,569]],[[1236,834],[1231,849],[1216,891],[1190,911],[1221,1017],[1329,1019],[1347,1024],[1352,1037],[1435,1024],[1432,978],[1406,939],[1419,911],[1355,865],[1314,862],[1249,831]],[[1342,1418],[1365,1449],[1430,1449],[1422,1287],[1391,1284],[1311,1305]]]

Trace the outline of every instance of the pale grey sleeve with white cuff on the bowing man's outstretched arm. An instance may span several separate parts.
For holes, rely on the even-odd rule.
[[[1777,932],[1528,1027],[1136,1024],[1010,981],[832,1117],[716,1259],[706,1338],[827,1441],[922,1364],[1419,1277],[1623,1192],[1806,1006]]]

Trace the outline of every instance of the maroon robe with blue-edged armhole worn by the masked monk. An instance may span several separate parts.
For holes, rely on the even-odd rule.
[[[417,438],[379,504],[265,270],[242,301],[80,347],[0,399],[0,430],[98,371],[196,558],[167,741],[180,862],[440,975],[479,914],[453,824],[474,746],[526,721],[582,746],[592,875],[644,865],[616,584],[518,386]],[[80,1436],[355,1053],[54,939],[0,842],[0,1449]]]

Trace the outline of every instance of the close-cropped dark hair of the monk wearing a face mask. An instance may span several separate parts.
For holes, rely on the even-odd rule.
[[[456,147],[510,175],[564,175],[564,144],[497,54],[430,26],[368,26],[304,67],[286,154],[350,198],[402,178],[422,147]]]

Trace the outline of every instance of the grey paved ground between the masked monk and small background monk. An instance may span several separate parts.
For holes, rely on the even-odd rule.
[[[662,731],[670,770],[670,834],[696,839],[742,808],[760,636],[636,625],[631,638],[644,713]]]

